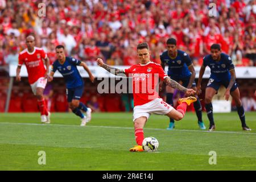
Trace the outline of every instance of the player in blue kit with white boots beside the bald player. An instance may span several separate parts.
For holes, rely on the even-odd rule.
[[[73,113],[81,118],[82,122],[80,126],[85,126],[86,122],[89,122],[91,119],[92,110],[80,102],[80,98],[84,92],[84,81],[76,66],[84,67],[92,82],[94,81],[94,76],[85,63],[82,63],[75,58],[65,56],[64,46],[57,46],[55,51],[57,60],[55,60],[51,66],[51,73],[48,76],[48,81],[53,80],[53,75],[56,70],[61,73],[67,86],[68,107]],[[86,116],[81,110],[86,112]]]

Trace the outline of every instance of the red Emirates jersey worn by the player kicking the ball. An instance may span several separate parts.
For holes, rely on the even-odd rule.
[[[127,77],[133,77],[134,106],[146,104],[160,98],[156,85],[159,78],[164,80],[168,77],[160,64],[148,62],[147,64],[135,64],[125,69]]]

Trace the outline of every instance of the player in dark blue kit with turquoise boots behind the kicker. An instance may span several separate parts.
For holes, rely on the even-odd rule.
[[[187,55],[187,53],[178,50],[176,45],[176,40],[174,38],[167,40],[167,51],[163,52],[160,56],[161,65],[163,69],[165,65],[168,65],[168,76],[172,80],[177,82],[181,81],[182,86],[185,88],[192,88],[193,90],[196,90],[196,72],[193,67],[192,60],[190,59],[189,55]],[[174,88],[171,88],[167,85],[166,92],[166,102],[171,106],[174,106],[174,101],[172,100],[172,97],[174,96]],[[204,122],[202,119],[202,106],[199,99],[197,99],[193,105],[196,110],[197,123],[201,130],[205,130]],[[169,127],[167,127],[167,130],[173,130],[174,127],[174,119],[170,118],[170,123]]]

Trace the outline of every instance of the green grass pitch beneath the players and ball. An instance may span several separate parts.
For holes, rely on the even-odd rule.
[[[151,115],[144,137],[159,141],[158,152],[129,152],[135,143],[132,113],[93,113],[80,127],[73,113],[52,113],[42,125],[39,113],[0,114],[0,170],[256,170],[255,112],[246,113],[252,131],[242,131],[236,112],[214,114],[216,131],[200,131],[195,113],[175,122]],[[203,113],[205,125],[208,118]],[[39,151],[46,164],[39,165]],[[215,151],[217,164],[209,164]]]

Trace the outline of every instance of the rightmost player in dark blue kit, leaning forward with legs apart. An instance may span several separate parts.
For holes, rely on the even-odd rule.
[[[197,93],[201,93],[201,80],[204,75],[206,67],[210,68],[210,78],[205,89],[205,109],[207,110],[207,116],[210,121],[210,127],[208,131],[215,129],[213,120],[213,107],[212,98],[217,93],[218,88],[224,85],[226,92],[224,94],[225,100],[229,100],[231,95],[234,98],[237,106],[237,113],[242,123],[242,129],[251,131],[245,123],[245,111],[243,110],[242,102],[240,100],[240,91],[236,83],[236,72],[234,70],[234,64],[229,55],[221,52],[221,46],[219,44],[212,44],[210,46],[210,55],[207,55],[203,59],[203,65],[199,72],[199,79],[197,82]]]

